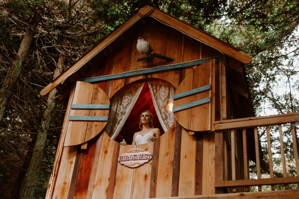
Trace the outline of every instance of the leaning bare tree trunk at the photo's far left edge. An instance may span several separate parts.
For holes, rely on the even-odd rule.
[[[8,69],[7,74],[2,82],[2,87],[0,89],[0,124],[7,108],[7,104],[13,93],[14,87],[16,86],[16,82],[18,81],[18,78],[23,70],[23,62],[27,57],[34,35],[33,32],[36,30],[37,24],[37,20],[33,19],[33,21],[28,25],[16,58],[14,58],[10,63],[10,68]]]

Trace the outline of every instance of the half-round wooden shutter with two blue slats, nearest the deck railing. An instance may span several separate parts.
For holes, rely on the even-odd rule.
[[[212,61],[199,65],[179,85],[173,96],[176,121],[190,131],[211,129]]]

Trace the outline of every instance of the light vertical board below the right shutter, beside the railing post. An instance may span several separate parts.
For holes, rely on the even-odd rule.
[[[203,133],[202,195],[215,194],[215,132]]]

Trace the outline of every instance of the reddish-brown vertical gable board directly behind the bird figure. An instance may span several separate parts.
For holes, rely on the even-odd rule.
[[[136,30],[137,32],[135,33],[135,36],[133,37],[134,40],[133,40],[133,45],[132,45],[132,55],[131,55],[129,71],[146,68],[147,60],[137,61],[137,58],[145,56],[145,55],[142,55],[137,51],[136,45],[137,45],[138,37],[140,37],[140,36],[143,37],[145,41],[149,42],[149,44],[151,44],[150,30],[151,30],[150,25],[144,25],[143,27],[140,27],[139,30]],[[138,79],[141,79],[142,77],[143,77],[143,75],[131,77],[131,78],[129,78],[129,83],[136,81]]]

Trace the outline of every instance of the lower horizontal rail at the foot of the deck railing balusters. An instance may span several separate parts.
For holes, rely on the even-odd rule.
[[[263,178],[263,179],[249,179],[249,180],[230,180],[230,181],[216,181],[216,188],[225,187],[240,187],[240,186],[261,186],[261,185],[275,185],[275,184],[293,184],[299,182],[299,176],[294,177],[280,177],[280,178]]]

